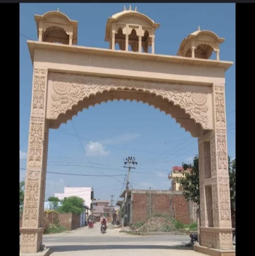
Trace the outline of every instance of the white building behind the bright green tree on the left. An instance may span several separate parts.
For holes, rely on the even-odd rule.
[[[93,187],[64,187],[64,193],[55,193],[55,197],[58,197],[60,200],[65,197],[78,196],[83,198],[85,206],[90,208],[92,203],[92,198],[94,195]],[[88,211],[90,214],[90,210]]]

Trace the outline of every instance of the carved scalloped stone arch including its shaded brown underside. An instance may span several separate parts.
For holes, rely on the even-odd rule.
[[[193,136],[198,135],[195,135],[196,132],[191,131],[189,126],[196,127],[199,134],[203,129],[212,129],[209,118],[210,94],[209,89],[206,88],[204,93],[201,93],[196,87],[191,86],[187,92],[180,89],[180,85],[174,84],[60,73],[49,74],[49,86],[51,96],[47,119],[52,120],[51,124],[55,127],[89,105],[113,99],[130,99],[148,103],[170,114]],[[166,103],[169,106],[166,106]],[[176,114],[172,114],[169,108],[177,106],[182,111],[175,110]]]

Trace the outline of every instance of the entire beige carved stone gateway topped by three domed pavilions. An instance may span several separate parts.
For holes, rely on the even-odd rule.
[[[225,72],[233,62],[220,60],[224,39],[198,28],[183,39],[178,56],[155,54],[159,23],[131,6],[108,18],[109,49],[77,45],[78,22],[59,10],[35,15],[35,21],[38,41],[27,41],[34,71],[20,255],[50,252],[41,251],[50,129],[114,99],[153,105],[198,138],[200,223],[194,250],[235,255],[225,106]],[[210,59],[213,51],[216,60]]]

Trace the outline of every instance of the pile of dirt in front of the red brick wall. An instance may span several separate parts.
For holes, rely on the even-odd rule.
[[[168,232],[171,231],[172,222],[164,217],[151,217],[137,231],[141,232]]]

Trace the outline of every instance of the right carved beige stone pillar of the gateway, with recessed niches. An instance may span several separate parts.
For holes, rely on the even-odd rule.
[[[214,130],[199,138],[200,245],[233,250],[225,86],[213,85]]]

